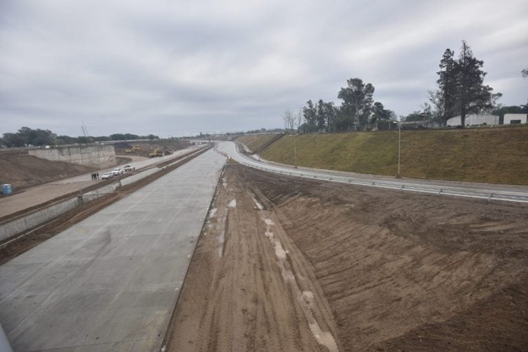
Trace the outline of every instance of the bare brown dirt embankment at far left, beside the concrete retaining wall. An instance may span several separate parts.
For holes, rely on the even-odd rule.
[[[0,165],[0,183],[12,184],[15,191],[96,170],[89,166],[41,159],[28,155],[27,151],[1,152]]]

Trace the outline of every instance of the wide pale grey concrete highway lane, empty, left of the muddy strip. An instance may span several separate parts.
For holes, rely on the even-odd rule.
[[[208,151],[0,267],[14,351],[159,351],[225,159]]]

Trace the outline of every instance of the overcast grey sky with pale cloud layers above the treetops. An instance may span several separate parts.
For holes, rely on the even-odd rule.
[[[527,18],[527,0],[0,0],[0,133],[281,127],[355,77],[407,115],[462,39],[501,102],[525,104]]]

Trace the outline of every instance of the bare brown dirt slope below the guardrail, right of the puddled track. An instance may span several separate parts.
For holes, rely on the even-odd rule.
[[[527,206],[238,171],[314,267],[345,351],[528,346]]]

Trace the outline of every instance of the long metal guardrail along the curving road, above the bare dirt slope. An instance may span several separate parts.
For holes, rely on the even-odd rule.
[[[330,176],[317,173],[303,173],[298,170],[289,170],[287,168],[281,169],[278,166],[274,168],[265,168],[263,166],[257,166],[255,164],[241,162],[245,166],[251,168],[257,168],[271,173],[277,173],[280,175],[290,175],[296,177],[304,177],[308,179],[320,179],[322,181],[338,182],[341,184],[353,184],[358,186],[370,186],[378,188],[388,188],[393,190],[406,190],[411,192],[422,192],[431,193],[437,195],[452,195],[455,197],[469,197],[477,199],[487,199],[487,201],[500,200],[500,201],[516,201],[520,203],[528,203],[528,194],[522,195],[515,192],[497,192],[497,191],[485,191],[485,190],[471,190],[468,188],[457,188],[457,187],[441,187],[441,186],[428,186],[419,184],[403,184],[400,182],[387,182],[370,179],[357,179],[353,177],[343,176]]]

